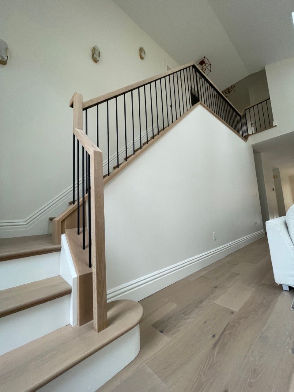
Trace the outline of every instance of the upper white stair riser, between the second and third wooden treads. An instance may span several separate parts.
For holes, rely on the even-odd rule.
[[[0,262],[0,290],[53,278],[59,274],[60,252],[4,260]]]

